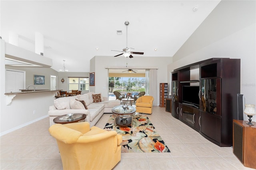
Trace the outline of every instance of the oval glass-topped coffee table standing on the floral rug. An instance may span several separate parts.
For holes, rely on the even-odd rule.
[[[124,109],[124,106],[127,108]],[[116,125],[120,126],[132,126],[132,119],[135,115],[136,108],[133,106],[127,106],[127,105],[119,105],[112,108],[112,113],[114,115],[114,121],[115,121],[115,127]]]

